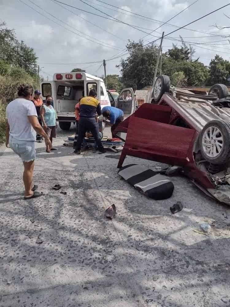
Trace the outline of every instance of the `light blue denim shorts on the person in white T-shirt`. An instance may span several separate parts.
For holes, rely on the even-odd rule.
[[[10,135],[9,145],[23,162],[30,162],[36,159],[34,141],[20,141]]]

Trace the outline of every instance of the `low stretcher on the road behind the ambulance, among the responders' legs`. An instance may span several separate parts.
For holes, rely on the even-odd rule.
[[[85,138],[86,140],[86,146],[90,148],[94,148],[94,138]],[[64,146],[73,146],[74,145],[74,136],[70,136],[66,139],[64,139]],[[102,138],[102,145],[104,148],[107,148],[109,150],[112,150],[115,153],[118,153],[123,149],[123,146],[125,145],[125,142],[121,140],[111,141],[111,139],[107,137]]]

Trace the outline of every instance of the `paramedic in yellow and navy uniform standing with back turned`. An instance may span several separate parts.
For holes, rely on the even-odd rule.
[[[105,149],[99,134],[99,126],[96,121],[96,113],[102,115],[102,109],[97,97],[97,91],[91,89],[89,96],[80,100],[80,119],[78,123],[78,139],[74,153],[81,154],[81,145],[85,137],[86,131],[93,134],[95,142],[98,146],[99,153],[104,153]]]

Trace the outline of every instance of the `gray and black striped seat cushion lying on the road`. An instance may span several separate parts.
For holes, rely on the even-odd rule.
[[[118,175],[130,185],[155,200],[167,199],[172,196],[174,185],[166,176],[138,164],[123,166]]]

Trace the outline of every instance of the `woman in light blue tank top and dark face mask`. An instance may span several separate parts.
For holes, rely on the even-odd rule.
[[[43,129],[45,130],[46,134],[49,136],[50,141],[52,143],[53,138],[56,138],[56,111],[52,107],[51,103],[53,101],[52,96],[46,96],[46,103],[41,106],[40,115],[41,120],[43,123]],[[48,146],[46,144],[46,152],[50,153],[51,150],[56,150]]]

